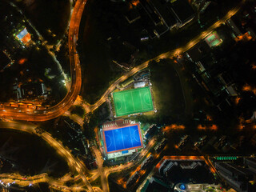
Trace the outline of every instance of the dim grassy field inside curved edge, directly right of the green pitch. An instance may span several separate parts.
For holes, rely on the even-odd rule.
[[[181,83],[170,60],[150,63],[154,103],[164,121],[184,114],[185,102]]]

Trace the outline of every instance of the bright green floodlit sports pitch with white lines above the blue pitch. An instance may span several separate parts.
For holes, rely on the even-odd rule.
[[[150,87],[148,86],[114,92],[113,98],[117,117],[154,110]]]

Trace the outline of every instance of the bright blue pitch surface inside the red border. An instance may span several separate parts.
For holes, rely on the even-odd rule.
[[[142,146],[138,125],[104,131],[106,152],[130,150]]]

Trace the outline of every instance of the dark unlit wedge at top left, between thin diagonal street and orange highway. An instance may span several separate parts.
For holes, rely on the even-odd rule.
[[[69,0],[21,1],[18,6],[50,44],[54,44],[65,34],[70,18]],[[56,36],[53,37],[52,34]]]

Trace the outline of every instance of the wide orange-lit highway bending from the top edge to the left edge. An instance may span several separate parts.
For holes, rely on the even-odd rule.
[[[82,84],[81,66],[76,46],[80,21],[85,5],[86,0],[78,0],[70,19],[69,52],[71,86],[66,97],[56,106],[50,106],[49,108],[25,103],[0,103],[0,117],[26,121],[46,121],[58,117],[73,105],[75,99],[78,97]]]

